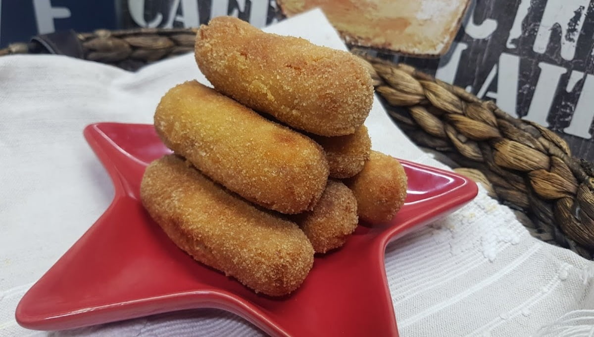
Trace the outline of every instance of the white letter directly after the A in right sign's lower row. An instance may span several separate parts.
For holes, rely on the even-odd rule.
[[[541,74],[536,83],[528,114],[524,118],[541,124],[546,128],[549,126],[546,117],[549,114],[549,109],[551,109],[551,103],[555,98],[559,78],[561,75],[567,73],[567,69],[545,62],[539,62],[538,67],[541,68]]]

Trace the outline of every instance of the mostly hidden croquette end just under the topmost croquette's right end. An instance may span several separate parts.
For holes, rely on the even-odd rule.
[[[363,169],[369,159],[371,139],[365,125],[353,134],[338,137],[312,136],[324,148],[331,178],[350,178]]]

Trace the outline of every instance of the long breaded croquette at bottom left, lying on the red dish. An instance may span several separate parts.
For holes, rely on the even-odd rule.
[[[140,196],[179,248],[256,292],[289,294],[314,263],[295,223],[256,209],[175,155],[147,167]]]

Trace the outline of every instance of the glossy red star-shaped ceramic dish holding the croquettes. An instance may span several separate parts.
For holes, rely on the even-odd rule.
[[[195,262],[144,211],[138,199],[144,168],[169,152],[151,125],[93,124],[84,136],[109,172],[115,198],[18,304],[16,319],[29,329],[211,307],[232,311],[274,336],[396,336],[386,245],[477,193],[464,177],[402,161],[409,190],[396,218],[377,228],[359,226],[340,250],[316,257],[301,288],[271,298]]]

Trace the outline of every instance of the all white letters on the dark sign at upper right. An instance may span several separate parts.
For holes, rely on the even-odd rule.
[[[516,40],[522,36],[522,23],[525,21],[527,15],[529,15],[530,4],[531,0],[520,1],[513,26],[507,38],[507,48],[517,48]],[[542,23],[539,26],[538,34],[532,46],[533,51],[544,53],[551,39],[551,29],[560,27],[563,33],[560,41],[561,57],[568,60],[573,59],[588,4],[589,1],[587,0],[548,0],[542,17]],[[465,17],[463,29],[465,29],[466,34],[472,37],[472,39],[487,39],[497,29],[497,21],[488,18],[481,24],[475,24],[472,19],[474,10],[475,7],[473,5],[469,10],[469,15]],[[447,83],[454,83],[463,52],[468,48],[469,45],[467,43],[453,42],[450,51],[441,57],[435,77]],[[594,50],[592,54],[594,55]],[[567,73],[567,69],[545,62],[540,62],[538,67],[541,69],[541,72],[525,118],[544,127],[548,127],[549,123],[546,119],[551,110],[552,102],[555,99],[555,93],[557,93],[561,75]],[[481,98],[489,97],[495,99],[499,108],[517,118],[519,74],[520,56],[505,52],[501,53],[498,63],[493,65],[476,95]],[[497,75],[497,92],[491,92],[488,91],[488,88],[491,86],[492,81],[495,80],[495,75]],[[573,111],[570,125],[564,129],[564,132],[590,139],[594,136],[590,134],[590,127],[594,120],[594,75],[584,75],[580,71],[572,71],[565,90],[572,92],[582,78],[584,79],[583,88],[580,92],[576,108]],[[472,86],[467,86],[466,90],[473,92]]]

